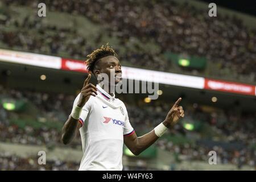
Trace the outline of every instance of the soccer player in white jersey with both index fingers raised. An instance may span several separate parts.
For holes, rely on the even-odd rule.
[[[101,73],[111,77],[111,71],[115,74],[115,84],[122,80],[121,64],[114,49],[107,44],[87,57],[89,75],[74,101],[61,139],[68,144],[80,131],[83,156],[79,170],[122,170],[123,142],[134,155],[151,146],[168,127],[184,117],[183,108],[179,106],[181,98],[171,107],[162,123],[142,137],[137,137],[129,122],[125,104],[115,98],[112,90],[106,89],[107,86],[101,88],[101,80],[98,80],[97,86],[89,83],[90,73],[96,77]]]

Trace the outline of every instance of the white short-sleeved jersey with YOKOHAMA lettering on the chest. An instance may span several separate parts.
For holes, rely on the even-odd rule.
[[[97,85],[97,96],[90,96],[79,121],[82,123],[82,160],[79,170],[122,170],[123,135],[134,133],[125,104]],[[80,94],[76,97],[77,104]],[[73,106],[74,106],[73,105]]]

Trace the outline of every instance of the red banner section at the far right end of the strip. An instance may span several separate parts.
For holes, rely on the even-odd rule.
[[[255,85],[240,84],[236,82],[211,80],[205,78],[204,88],[209,90],[218,90],[222,92],[232,92],[255,96]]]

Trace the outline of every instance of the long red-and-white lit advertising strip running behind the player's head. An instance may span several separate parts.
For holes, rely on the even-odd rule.
[[[11,51],[6,49],[0,49],[0,61],[34,65],[43,68],[63,69],[66,71],[88,72],[86,64],[82,60],[65,59],[57,56],[39,55],[37,53]],[[255,85],[242,84],[239,82],[212,80],[198,76],[188,76],[131,67],[122,67],[122,71],[123,78],[129,80],[158,82],[160,84],[256,96]]]

